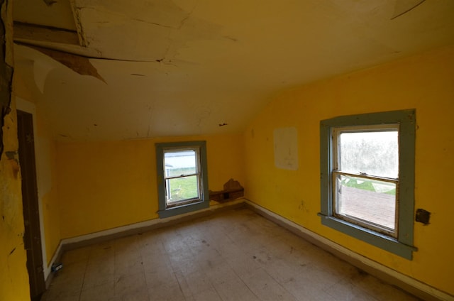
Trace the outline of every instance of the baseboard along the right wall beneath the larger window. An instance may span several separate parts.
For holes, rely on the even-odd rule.
[[[289,221],[289,219],[286,219],[279,214],[275,214],[274,212],[271,212],[270,210],[265,209],[248,199],[245,200],[245,204],[262,217],[279,224],[279,226],[283,226],[285,229],[288,229],[301,238],[306,239],[320,248],[323,248],[323,250],[332,253],[334,256],[341,258],[343,261],[346,261],[361,270],[365,270],[367,273],[370,273],[370,275],[374,275],[386,283],[394,285],[402,290],[406,290],[406,292],[409,292],[422,300],[454,300],[454,296],[449,295],[447,292],[433,288],[431,285],[422,283],[419,280],[399,273],[397,270],[393,270],[387,266],[383,266],[381,263],[372,261],[371,259],[355,253],[338,243],[330,241],[329,239],[326,239],[325,237],[320,236],[319,234],[316,234],[309,229],[294,223],[293,221]]]

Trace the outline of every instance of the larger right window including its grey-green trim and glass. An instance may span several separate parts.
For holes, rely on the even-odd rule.
[[[411,259],[415,111],[323,120],[321,222]]]

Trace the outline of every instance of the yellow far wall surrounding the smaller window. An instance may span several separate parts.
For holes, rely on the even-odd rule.
[[[57,144],[62,238],[157,218],[155,143],[205,140],[209,189],[244,182],[243,136]]]

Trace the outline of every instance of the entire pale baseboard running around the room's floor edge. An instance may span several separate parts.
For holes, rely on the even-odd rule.
[[[402,290],[406,290],[406,292],[409,292],[412,295],[421,298],[422,300],[454,301],[454,296],[448,294],[447,292],[433,288],[431,285],[427,285],[426,283],[422,283],[419,280],[399,273],[392,268],[383,266],[381,263],[372,261],[370,258],[355,253],[348,248],[339,245],[338,243],[326,239],[325,237],[320,236],[319,234],[316,234],[309,229],[306,229],[303,226],[300,226],[299,224],[296,224],[293,221],[280,216],[279,214],[275,214],[274,212],[271,212],[270,210],[265,209],[264,207],[261,207],[260,205],[255,204],[248,199],[236,199],[235,201],[216,204],[198,212],[189,212],[187,214],[181,214],[179,216],[169,217],[167,219],[151,219],[148,221],[143,221],[127,226],[120,226],[114,229],[99,231],[92,234],[76,236],[70,239],[62,239],[57,247],[57,250],[55,251],[54,256],[52,257],[52,260],[50,261],[50,265],[45,271],[48,275],[45,280],[46,288],[49,288],[49,285],[52,282],[52,278],[54,276],[54,273],[52,273],[52,265],[54,263],[59,263],[61,261],[62,254],[67,250],[80,248],[82,246],[90,246],[94,243],[109,241],[111,239],[118,239],[125,236],[140,234],[145,231],[159,229],[165,226],[172,226],[199,217],[206,217],[223,209],[233,209],[243,206],[247,206],[254,212],[260,214],[262,217],[275,222],[279,226],[288,229],[301,238],[306,239],[307,241],[313,243],[316,246],[319,246],[320,248],[323,248],[323,250],[332,253],[334,256],[341,258],[343,261],[346,261],[353,266],[360,268],[361,270],[365,270],[367,273],[370,273],[370,275],[374,275],[375,277],[383,280],[386,283],[394,285]]]

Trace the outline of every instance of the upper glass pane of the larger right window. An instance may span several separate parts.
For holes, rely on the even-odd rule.
[[[338,170],[343,173],[399,176],[398,131],[343,132],[338,147]]]

